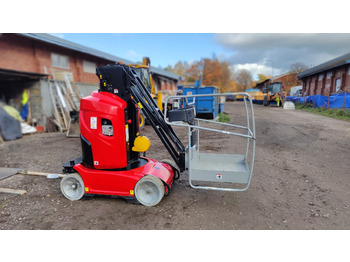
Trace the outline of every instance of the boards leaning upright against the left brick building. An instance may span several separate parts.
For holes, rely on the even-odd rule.
[[[55,73],[51,70],[53,81],[48,81],[50,97],[53,108],[51,121],[60,132],[66,132],[70,128],[70,112],[78,112],[80,106],[80,94],[77,86],[69,80],[69,76],[63,75],[62,80],[56,80]]]

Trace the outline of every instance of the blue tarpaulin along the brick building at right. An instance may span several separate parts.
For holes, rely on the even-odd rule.
[[[346,95],[346,97],[345,97]],[[331,96],[287,96],[287,100],[296,103],[309,103],[313,102],[317,107],[329,107],[329,108],[350,108],[350,93],[347,94],[337,94]],[[329,103],[329,106],[328,106]]]

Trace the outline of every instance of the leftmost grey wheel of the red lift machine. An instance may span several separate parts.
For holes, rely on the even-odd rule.
[[[61,180],[61,192],[69,200],[75,201],[85,193],[84,181],[78,173],[66,175]]]

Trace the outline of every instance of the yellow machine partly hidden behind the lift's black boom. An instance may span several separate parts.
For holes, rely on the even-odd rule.
[[[163,100],[162,100],[162,93],[157,92],[156,88],[154,87],[153,84],[153,79],[152,79],[152,74],[150,71],[151,68],[151,60],[149,57],[144,57],[142,59],[142,64],[133,64],[133,65],[128,65],[132,66],[136,69],[136,73],[138,76],[141,78],[143,81],[144,85],[147,87],[149,90],[152,98],[157,101],[157,105],[159,109],[163,112]],[[145,117],[140,114],[140,128],[142,129],[146,123]]]

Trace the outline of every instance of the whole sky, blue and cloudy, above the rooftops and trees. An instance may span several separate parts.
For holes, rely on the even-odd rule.
[[[294,63],[313,67],[350,52],[350,34],[314,33],[118,33],[54,34],[131,60],[151,58],[153,66],[193,63],[201,58],[228,61],[233,71],[247,69],[257,74],[279,75]]]

